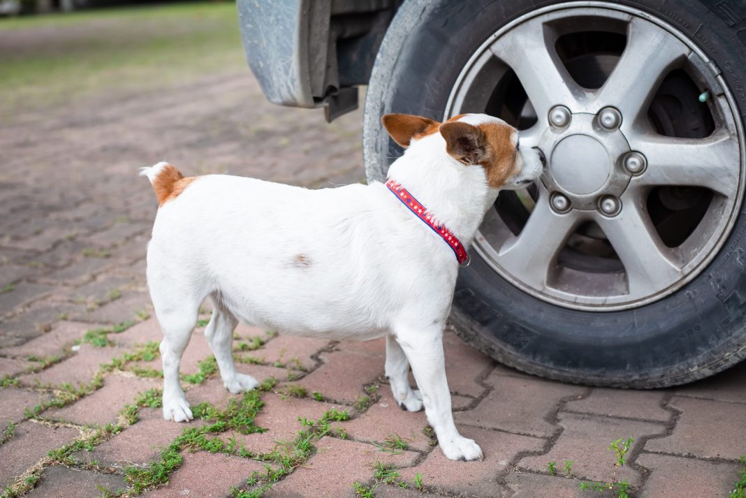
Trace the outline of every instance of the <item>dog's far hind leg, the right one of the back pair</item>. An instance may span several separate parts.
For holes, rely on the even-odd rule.
[[[223,385],[231,394],[251,391],[259,382],[250,375],[236,373],[233,364],[233,330],[238,320],[222,306],[219,299],[214,296],[210,299],[213,301],[213,316],[204,330],[204,336],[215,355]]]

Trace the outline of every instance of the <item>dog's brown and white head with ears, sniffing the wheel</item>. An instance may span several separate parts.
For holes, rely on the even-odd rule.
[[[521,189],[542,174],[542,152],[538,148],[521,148],[518,130],[502,119],[460,114],[440,123],[421,116],[386,114],[381,122],[404,148],[439,133],[445,141],[442,152],[463,165],[484,168],[490,189]],[[443,147],[442,142],[437,146]]]

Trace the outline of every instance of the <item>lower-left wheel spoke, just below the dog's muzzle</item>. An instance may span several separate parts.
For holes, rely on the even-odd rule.
[[[546,285],[549,269],[580,222],[577,211],[557,214],[549,207],[548,194],[541,189],[520,235],[508,239],[498,253],[498,263],[510,274],[532,286]]]

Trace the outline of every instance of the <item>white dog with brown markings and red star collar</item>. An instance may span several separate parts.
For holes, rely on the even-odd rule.
[[[316,338],[386,336],[399,406],[416,412],[424,403],[446,457],[483,458],[454,425],[442,332],[486,209],[498,190],[536,179],[543,158],[484,114],[442,124],[389,114],[383,125],[407,148],[386,184],[309,190],[227,174],[183,177],[168,163],[142,168],[160,203],[148,286],[163,329],[167,420],[192,418],[179,362],[209,297],[205,336],[231,393],[258,384],[233,368],[238,321]],[[420,391],[410,388],[410,365]]]

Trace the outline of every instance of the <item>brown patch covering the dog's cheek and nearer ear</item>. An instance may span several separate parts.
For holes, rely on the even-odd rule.
[[[440,126],[448,154],[460,163],[482,166],[492,189],[515,174],[514,133],[513,127],[500,122],[474,125],[449,120]]]

